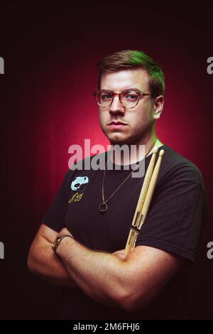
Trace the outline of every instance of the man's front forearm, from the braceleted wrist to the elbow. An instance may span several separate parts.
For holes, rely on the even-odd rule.
[[[71,238],[62,240],[57,254],[84,293],[108,306],[121,306],[129,283],[128,264],[124,259],[93,251]]]

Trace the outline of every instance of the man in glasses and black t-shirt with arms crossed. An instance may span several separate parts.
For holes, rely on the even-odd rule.
[[[28,267],[67,287],[62,318],[187,318],[185,275],[195,262],[206,198],[199,169],[156,137],[163,72],[141,51],[120,51],[99,62],[98,89],[102,131],[112,147],[136,145],[137,156],[118,163],[111,150],[111,169],[67,172],[31,245]],[[165,153],[146,222],[126,256],[144,176],[132,178],[124,166],[141,163],[140,145],[145,170],[154,145]]]

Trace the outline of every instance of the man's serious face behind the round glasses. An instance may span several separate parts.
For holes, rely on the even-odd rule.
[[[121,93],[133,89],[151,93],[146,70],[128,69],[102,75],[100,90]],[[119,96],[114,97],[111,107],[99,107],[100,126],[111,144],[146,144],[151,139],[153,119],[155,103],[150,95],[141,97],[132,109],[123,107]],[[125,125],[116,126],[110,122],[124,122]]]

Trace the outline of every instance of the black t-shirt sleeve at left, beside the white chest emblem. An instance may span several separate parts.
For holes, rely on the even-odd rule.
[[[52,205],[50,205],[50,208],[42,218],[43,224],[47,225],[56,232],[59,232],[63,227],[65,227],[65,216],[70,194],[70,181],[72,178],[70,173],[72,172],[67,171],[65,174],[65,178],[60,185]]]

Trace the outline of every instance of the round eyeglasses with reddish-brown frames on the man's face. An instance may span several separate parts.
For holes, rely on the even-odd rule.
[[[143,93],[141,91],[136,92],[134,90],[125,90],[121,93],[114,93],[110,90],[98,90],[92,94],[94,95],[97,104],[99,104],[102,108],[109,108],[114,100],[114,97],[119,96],[121,104],[128,109],[136,107],[141,97],[152,95],[150,93]]]

